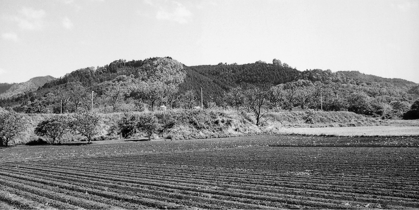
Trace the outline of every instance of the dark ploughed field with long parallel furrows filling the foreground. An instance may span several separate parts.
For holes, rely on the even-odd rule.
[[[418,209],[418,137],[0,148],[0,209]]]

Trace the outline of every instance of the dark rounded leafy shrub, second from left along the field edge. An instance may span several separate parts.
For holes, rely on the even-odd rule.
[[[47,136],[52,138],[51,143],[61,143],[61,137],[70,130],[70,121],[64,115],[54,115],[42,120],[35,127],[35,134],[38,136]]]

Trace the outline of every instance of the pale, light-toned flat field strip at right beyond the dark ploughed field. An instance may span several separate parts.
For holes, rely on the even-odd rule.
[[[419,126],[281,128],[281,133],[327,136],[419,136]]]

